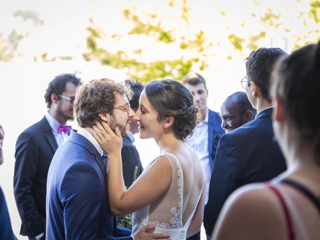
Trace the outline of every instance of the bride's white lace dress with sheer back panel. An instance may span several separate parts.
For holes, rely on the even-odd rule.
[[[203,175],[197,176],[195,173],[199,172],[198,167],[201,167],[200,172],[204,174],[203,168],[201,164],[197,166],[192,162],[184,162],[181,166],[180,161],[169,152],[162,156],[165,156],[172,166],[170,186],[161,197],[133,212],[131,235],[148,223],[154,223],[156,227],[152,232],[168,232],[172,240],[185,239],[204,184]],[[150,167],[152,162],[147,167]],[[184,198],[186,201],[183,201]]]

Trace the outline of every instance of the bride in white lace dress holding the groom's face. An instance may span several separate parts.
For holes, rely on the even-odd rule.
[[[140,138],[153,137],[160,155],[125,190],[121,163],[121,133],[105,123],[94,127],[94,137],[108,158],[107,190],[115,216],[133,212],[132,234],[153,223],[150,232],[167,232],[171,239],[185,239],[200,229],[205,184],[196,153],[184,142],[199,118],[191,93],[178,81],[156,80],[141,92],[138,121]],[[145,151],[148,149],[145,148]]]

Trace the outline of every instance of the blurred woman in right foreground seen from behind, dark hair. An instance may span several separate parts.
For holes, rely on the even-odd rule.
[[[320,42],[276,65],[272,121],[288,169],[232,193],[212,239],[320,239],[319,66]]]

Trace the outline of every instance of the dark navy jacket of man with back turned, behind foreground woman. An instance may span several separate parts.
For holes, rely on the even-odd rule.
[[[211,235],[222,205],[232,191],[247,183],[269,180],[286,169],[274,140],[271,113],[272,108],[263,109],[254,120],[220,138],[204,211],[207,235]]]

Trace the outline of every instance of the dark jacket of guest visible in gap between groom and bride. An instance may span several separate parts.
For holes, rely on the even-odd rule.
[[[121,158],[124,184],[129,188],[143,171],[139,153],[129,137],[122,137]]]

